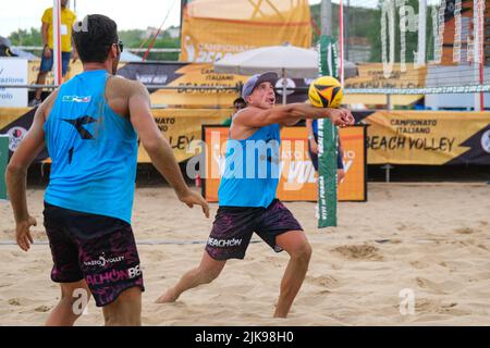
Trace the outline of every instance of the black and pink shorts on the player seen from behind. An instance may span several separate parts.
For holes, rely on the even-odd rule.
[[[47,202],[44,215],[54,263],[53,282],[73,283],[85,278],[97,307],[111,303],[131,287],[145,290],[128,223]]]

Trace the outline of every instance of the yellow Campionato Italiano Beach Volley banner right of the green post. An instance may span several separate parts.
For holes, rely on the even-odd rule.
[[[377,111],[369,124],[368,164],[490,164],[490,112]]]

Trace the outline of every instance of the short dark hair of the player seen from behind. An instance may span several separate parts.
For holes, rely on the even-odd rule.
[[[73,27],[73,41],[84,63],[103,63],[112,44],[118,44],[118,25],[102,14],[89,14]]]

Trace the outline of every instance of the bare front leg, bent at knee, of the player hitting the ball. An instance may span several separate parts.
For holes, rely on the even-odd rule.
[[[275,243],[291,259],[281,281],[281,291],[274,318],[286,318],[308,271],[311,247],[302,231],[290,231],[275,238]]]

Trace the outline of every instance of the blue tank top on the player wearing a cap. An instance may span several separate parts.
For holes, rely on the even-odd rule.
[[[279,184],[280,144],[278,124],[261,127],[244,140],[228,140],[218,189],[221,207],[269,207]]]

